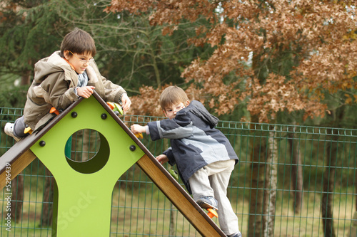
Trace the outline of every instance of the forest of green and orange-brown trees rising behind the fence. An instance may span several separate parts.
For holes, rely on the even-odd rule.
[[[129,93],[131,115],[162,116],[161,90],[178,85],[220,120],[356,129],[356,4],[4,0],[0,3],[0,107],[24,107],[34,63],[59,50],[66,33],[79,27],[96,41],[95,60],[102,75]],[[270,156],[256,152],[267,145],[252,149],[252,184],[260,185],[258,180],[265,178],[259,173],[264,170],[259,169],[264,165],[259,156]],[[301,159],[292,157],[291,162],[301,167]],[[291,182],[296,183],[293,190],[302,190],[303,171],[292,171],[297,177]],[[329,164],[326,171],[331,174]],[[331,185],[332,178],[326,175],[323,184]],[[322,202],[328,205],[321,204],[327,206],[321,215],[331,220],[328,190],[333,188],[323,186]],[[261,200],[250,199],[251,206],[257,204]],[[263,233],[254,228],[256,223],[249,221],[251,235]],[[332,226],[328,221],[323,224]],[[331,230],[325,236],[333,236],[333,227],[324,230]]]

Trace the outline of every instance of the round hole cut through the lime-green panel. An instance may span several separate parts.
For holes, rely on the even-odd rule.
[[[74,170],[91,174],[99,171],[108,162],[109,144],[96,130],[79,130],[67,140],[64,154]]]

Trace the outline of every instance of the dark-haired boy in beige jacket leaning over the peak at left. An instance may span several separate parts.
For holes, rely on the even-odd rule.
[[[65,110],[79,97],[89,98],[96,90],[106,101],[119,102],[129,110],[131,100],[119,85],[106,80],[94,62],[96,46],[93,38],[79,28],[75,28],[61,43],[61,51],[39,60],[35,64],[34,80],[27,93],[24,116],[8,122],[4,127],[7,135],[19,141],[24,129],[41,130],[52,117],[51,107]]]

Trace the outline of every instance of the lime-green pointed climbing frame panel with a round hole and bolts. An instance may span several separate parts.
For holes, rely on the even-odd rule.
[[[99,132],[99,152],[86,162],[75,162],[66,158],[66,142],[84,129]],[[31,151],[58,187],[52,236],[109,236],[114,185],[144,152],[94,96],[76,105]]]

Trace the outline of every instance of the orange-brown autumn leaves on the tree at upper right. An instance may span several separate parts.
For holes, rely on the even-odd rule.
[[[106,11],[149,13],[152,25],[167,26],[164,34],[183,20],[206,19],[189,42],[214,52],[182,73],[187,93],[218,115],[246,103],[252,116],[268,122],[278,111],[323,117],[332,109],[326,95],[341,104],[356,102],[355,6],[325,0],[112,0]],[[136,112],[150,107],[152,115],[162,115],[156,114],[161,89],[143,88]]]

